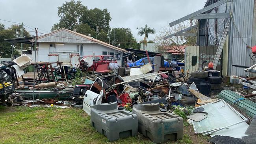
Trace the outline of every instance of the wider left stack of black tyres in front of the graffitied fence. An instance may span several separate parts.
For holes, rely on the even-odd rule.
[[[196,71],[192,71],[190,74],[191,74],[191,77],[187,82],[189,83],[194,82],[195,85],[197,86],[197,89],[200,90],[200,83],[207,81],[208,72],[196,70]]]

